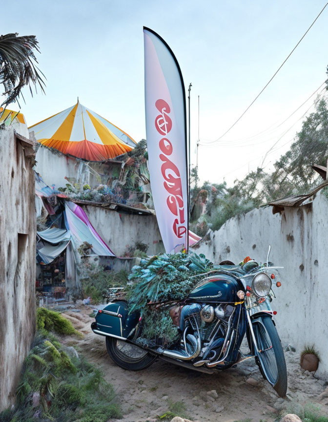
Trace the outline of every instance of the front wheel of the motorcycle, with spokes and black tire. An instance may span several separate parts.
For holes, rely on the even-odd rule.
[[[287,392],[287,368],[276,327],[268,315],[254,319],[252,326],[258,348],[262,350],[262,353],[255,357],[261,374],[280,397],[285,397]]]

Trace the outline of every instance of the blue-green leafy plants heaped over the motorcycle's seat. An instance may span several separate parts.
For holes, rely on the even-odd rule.
[[[142,259],[140,265],[132,268],[128,276],[132,285],[127,286],[126,292],[131,302],[130,312],[137,311],[142,317],[143,338],[139,341],[161,338],[166,345],[177,338],[178,330],[167,308],[172,302],[184,299],[194,288],[198,277],[191,276],[212,267],[203,254],[163,253]],[[151,303],[162,306],[154,310],[148,306]]]

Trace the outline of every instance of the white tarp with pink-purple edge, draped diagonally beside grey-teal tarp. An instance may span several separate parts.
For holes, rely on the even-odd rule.
[[[116,256],[96,232],[86,213],[79,205],[66,201],[65,214],[67,228],[76,248],[79,248],[83,242],[87,242],[92,245],[92,251],[95,255]]]

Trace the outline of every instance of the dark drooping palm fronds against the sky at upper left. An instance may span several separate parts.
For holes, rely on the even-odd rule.
[[[38,68],[34,51],[40,52],[34,35],[18,37],[18,34],[0,35],[0,84],[4,87],[5,100],[0,105],[18,102],[21,89],[28,85],[33,96],[32,86],[37,92],[37,85],[44,92],[44,77]],[[45,79],[45,77],[44,77]],[[22,96],[24,99],[24,97]]]

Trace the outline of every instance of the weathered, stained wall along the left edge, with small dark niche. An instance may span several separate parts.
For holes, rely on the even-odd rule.
[[[13,129],[0,130],[0,410],[15,400],[35,332],[32,154]]]

